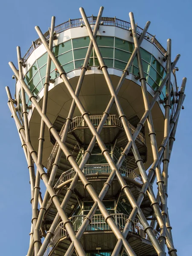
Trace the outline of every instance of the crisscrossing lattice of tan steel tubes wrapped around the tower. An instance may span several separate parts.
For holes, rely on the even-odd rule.
[[[169,221],[169,213],[167,207],[167,189],[169,160],[172,153],[173,143],[175,141],[175,133],[180,115],[180,109],[182,108],[185,98],[184,90],[186,85],[186,78],[183,79],[180,91],[176,95],[177,101],[175,103],[175,111],[172,116],[170,116],[170,109],[172,108],[171,75],[173,71],[175,72],[175,66],[178,59],[180,58],[180,55],[177,55],[175,60],[172,62],[171,40],[168,39],[167,50],[166,52],[163,52],[165,53],[164,58],[166,61],[166,75],[162,79],[157,90],[155,90],[153,97],[151,97],[149,100],[148,87],[143,69],[143,60],[140,46],[147,35],[147,30],[150,22],[148,21],[146,23],[145,28],[139,34],[137,25],[134,21],[134,15],[132,12],[130,12],[129,16],[131,20],[131,29],[129,29],[127,33],[131,33],[131,37],[133,38],[134,43],[134,49],[131,57],[128,60],[128,63],[126,64],[126,67],[122,72],[122,76],[120,77],[118,84],[113,84],[111,76],[108,72],[108,67],[105,64],[104,58],[102,57],[101,48],[99,47],[98,41],[96,40],[97,32],[99,30],[99,27],[102,26],[103,22],[102,12],[103,7],[101,7],[99,10],[98,17],[96,18],[96,22],[94,24],[94,29],[92,30],[93,27],[90,26],[90,22],[87,19],[84,9],[80,8],[80,13],[82,16],[81,27],[86,27],[90,42],[86,49],[86,56],[81,67],[81,72],[78,78],[78,82],[76,83],[75,90],[74,86],[72,86],[70,82],[69,77],[67,77],[64,68],[60,65],[58,58],[56,58],[55,51],[52,50],[53,41],[55,40],[55,17],[52,17],[51,28],[49,30],[49,41],[47,41],[47,38],[45,37],[45,35],[43,35],[40,28],[38,26],[35,27],[39,38],[48,53],[46,76],[44,80],[44,95],[41,102],[42,104],[38,102],[36,96],[34,95],[34,93],[32,93],[29,86],[26,84],[26,81],[24,81],[23,66],[25,65],[25,63],[21,58],[20,47],[17,47],[18,70],[12,62],[9,63],[12,71],[15,74],[17,83],[20,84],[22,102],[21,119],[18,113],[18,103],[15,99],[12,98],[9,87],[6,87],[6,92],[9,99],[8,106],[12,113],[12,117],[15,120],[26,161],[28,163],[32,194],[32,226],[30,233],[30,245],[27,256],[85,256],[86,253],[91,252],[88,249],[85,249],[88,245],[86,244],[86,240],[82,242],[82,238],[85,236],[84,234],[86,234],[87,230],[92,232],[87,232],[87,239],[93,236],[93,233],[96,231],[96,223],[97,225],[99,223],[99,228],[97,228],[97,231],[99,230],[101,234],[101,230],[110,230],[111,233],[109,233],[110,235],[108,236],[111,236],[110,238],[116,239],[113,240],[116,241],[116,244],[113,244],[113,250],[110,249],[110,254],[105,254],[108,252],[108,245],[106,241],[106,247],[102,253],[99,253],[99,250],[101,251],[103,248],[97,246],[96,250],[98,250],[98,254],[93,254],[95,253],[93,252],[89,255],[117,256],[119,255],[119,253],[121,253],[121,255],[129,256],[163,256],[166,255],[166,250],[168,250],[171,256],[177,255],[177,250],[174,247],[172,239],[172,227]],[[154,43],[154,40],[156,39],[153,38],[152,43]],[[108,87],[108,90],[111,94],[109,102],[106,102],[107,107],[103,110],[103,114],[99,117],[97,116],[94,118],[90,115],[89,109],[85,109],[84,104],[80,99],[85,74],[88,70],[90,70],[89,61],[93,48],[99,62],[98,72],[99,74],[102,74],[102,76],[105,78],[105,86]],[[125,112],[122,108],[122,104],[119,100],[118,93],[121,90],[126,77],[129,75],[129,70],[136,56],[139,69],[138,77],[136,78],[137,80],[139,79],[138,82],[140,82],[142,92],[140,94],[141,96],[139,100],[141,101],[143,99],[142,104],[144,106],[144,112],[142,114],[142,118],[140,118],[137,124],[137,128],[134,128],[127,121]],[[54,123],[49,120],[49,117],[47,115],[47,107],[49,105],[49,76],[51,71],[51,62],[54,63],[56,67],[56,72],[59,74],[60,79],[62,79],[65,88],[67,89],[67,93],[72,99],[66,122],[64,123],[60,134],[58,134]],[[163,102],[161,100],[161,104],[164,104],[165,109],[163,122],[164,131],[163,140],[161,141],[160,147],[158,149],[158,143],[156,140],[156,134],[154,129],[154,119],[151,112],[157,100],[159,100],[159,96],[165,86],[166,97],[163,99]],[[32,102],[32,110],[34,111],[35,109],[35,111],[37,111],[39,116],[41,117],[41,125],[39,126],[38,130],[39,138],[37,139],[37,152],[35,151],[34,146],[32,145],[33,143],[31,141],[31,128],[30,122],[28,120],[29,116],[28,105],[26,105],[26,95]],[[112,107],[114,108],[114,106],[116,108],[116,113],[118,113],[118,118],[116,118],[115,115],[110,115],[110,111]],[[81,117],[79,117],[79,119],[73,118],[75,109],[78,109],[81,113]],[[79,126],[77,125],[78,122],[81,122]],[[86,125],[83,124],[83,122],[86,123]],[[114,160],[114,157],[112,157],[116,142],[113,143],[113,150],[111,153],[111,151],[109,151],[108,145],[106,145],[106,143],[104,142],[103,135],[101,135],[102,131],[106,129],[106,127],[111,129],[110,127],[112,126],[112,124],[113,127],[118,126],[123,129],[123,132],[125,133],[124,136],[126,137],[127,141],[126,145],[123,146],[122,151],[119,153],[119,159],[117,160]],[[76,159],[74,158],[74,154],[71,153],[70,150],[70,145],[68,145],[67,143],[68,133],[76,128],[75,125],[78,127],[81,126],[81,128],[83,126],[86,126],[86,128],[89,129],[90,134],[92,134],[90,142],[87,144],[86,148],[84,147],[84,149],[86,150],[83,149],[84,153],[81,154],[80,163],[76,160],[77,156]],[[144,137],[142,137],[142,134],[140,133],[144,125],[148,129],[148,135],[150,139],[150,143],[148,143],[146,147],[151,148],[151,155],[153,158],[149,170],[148,167],[146,168],[144,166],[144,158],[142,155],[143,153],[140,154],[140,149],[138,146],[141,143],[143,143],[142,146],[145,144],[145,141],[143,139]],[[44,170],[44,166],[42,165],[42,159],[44,156],[44,143],[46,142],[46,127],[48,128],[51,136],[55,140],[55,146],[53,148],[54,151],[52,151],[52,158],[51,161],[48,161],[47,169],[49,170],[49,172],[46,172]],[[76,139],[78,141],[77,137],[78,136],[76,135]],[[116,137],[115,141],[117,141],[117,138],[118,137]],[[100,167],[98,165],[86,166],[95,145],[98,145],[98,147],[100,148],[100,151],[102,152],[101,155],[105,157],[106,164],[100,165]],[[82,149],[79,152],[81,153],[81,151]],[[65,155],[72,169],[68,168],[69,170],[64,172],[63,176],[61,175],[60,178],[57,178],[56,175],[58,172],[58,168],[59,165],[61,165],[61,154]],[[123,167],[123,163],[128,156],[132,156],[131,160],[129,159],[129,162],[133,161],[134,159],[133,166],[135,165],[135,167],[129,171],[128,169]],[[36,166],[37,169],[36,174],[34,166]],[[67,166],[67,162],[65,162],[65,166]],[[138,175],[134,172],[135,168],[137,168],[138,170]],[[93,179],[93,183],[90,182],[91,177]],[[99,193],[96,191],[97,187],[93,185],[97,182],[95,177],[101,177],[98,182],[102,182],[102,180],[104,180],[103,187]],[[44,198],[41,198],[40,193],[41,179],[43,180],[47,188]],[[157,180],[158,187],[157,196],[154,194],[153,190],[155,180]],[[79,196],[80,199],[78,198],[78,191],[75,190],[78,183],[83,184],[83,193],[85,195],[85,198],[89,198],[89,200],[93,201],[93,204],[91,205],[89,211],[86,214],[79,215],[80,217],[78,215],[70,215],[69,218],[69,214],[66,212],[66,209],[67,204],[69,204],[70,200],[72,200],[72,195],[76,194],[77,205],[79,205],[78,207],[80,208],[82,206],[82,204],[79,202],[81,197]],[[116,207],[120,201],[120,198],[123,196],[122,202],[128,202],[126,204],[129,204],[131,207],[129,215],[126,215],[124,213],[118,214],[110,212],[110,210],[106,207],[104,198],[106,197],[106,195],[108,195],[111,186],[114,186],[114,184],[116,184],[116,186],[118,186],[119,188],[117,193],[118,195]],[[134,184],[134,186],[138,186],[139,188],[137,189],[137,196],[135,194],[136,190],[134,190],[132,184]],[[63,192],[63,198],[61,198],[62,189],[65,189]],[[148,208],[146,208],[145,206],[141,207],[143,204],[143,200],[148,200]],[[74,204],[72,204],[71,209],[74,208]],[[53,205],[55,205],[54,209],[57,213],[55,213],[54,218],[51,219],[50,217],[49,220],[51,221],[49,221],[49,224],[45,224],[45,220],[48,216],[47,209],[50,209],[51,207],[53,207]],[[39,206],[40,210],[38,210]],[[144,211],[144,208],[149,209],[150,214],[147,214],[147,210],[145,209],[146,211]],[[85,212],[85,207],[83,208],[83,210]],[[100,214],[96,214],[96,211],[99,211]],[[149,216],[151,217],[149,218]],[[99,219],[100,222],[98,221]],[[78,222],[79,220],[80,222]],[[149,220],[151,221],[150,224]],[[105,228],[101,228],[101,224],[104,225]],[[135,236],[133,235],[133,233],[135,233]],[[133,237],[131,237],[132,235]],[[44,240],[42,243],[41,238],[43,236]],[[62,243],[59,239],[62,240]],[[143,241],[143,243],[140,242],[141,240]],[[89,246],[91,248],[91,243]],[[140,251],[137,250],[139,249],[139,246]]]

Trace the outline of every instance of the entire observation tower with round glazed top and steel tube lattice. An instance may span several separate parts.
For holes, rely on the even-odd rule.
[[[58,26],[52,17],[24,57],[17,47],[18,67],[9,63],[30,177],[27,256],[177,255],[167,196],[185,98],[180,55],[147,32],[149,21],[141,29],[132,12],[130,22],[102,12],[80,8]]]

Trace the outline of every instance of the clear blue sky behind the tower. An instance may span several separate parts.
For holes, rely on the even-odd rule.
[[[103,16],[129,21],[129,12],[134,12],[138,26],[144,27],[151,21],[149,32],[166,47],[166,40],[172,39],[172,61],[177,55],[177,83],[180,87],[183,77],[187,77],[185,109],[181,111],[176,141],[169,167],[169,215],[173,227],[173,238],[178,255],[191,255],[192,251],[192,3],[190,0],[137,0],[137,1],[23,1],[1,2],[0,40],[0,254],[2,256],[24,256],[29,245],[31,204],[29,172],[20,146],[15,122],[7,107],[5,86],[9,86],[12,96],[15,81],[8,62],[17,65],[16,47],[22,55],[32,41],[38,38],[34,27],[48,30],[51,17],[56,17],[56,25],[81,17],[79,7],[84,7],[88,16],[97,15],[104,6]]]

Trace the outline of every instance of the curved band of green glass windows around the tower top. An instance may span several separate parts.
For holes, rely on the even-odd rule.
[[[118,70],[124,70],[125,66],[131,56],[134,49],[134,44],[120,38],[97,36],[96,41],[99,45],[99,49],[104,58],[105,64],[108,67],[116,68]],[[64,43],[61,43],[53,47],[61,66],[65,72],[68,73],[74,69],[81,69],[84,58],[90,43],[89,37],[70,39]],[[154,89],[160,86],[162,79],[166,76],[166,70],[164,67],[154,58],[151,53],[141,48],[141,56],[143,61],[143,69],[147,83]],[[99,61],[96,57],[96,53],[92,50],[89,60],[90,67],[98,67]],[[41,89],[44,87],[45,75],[47,68],[47,52],[38,58],[29,71],[25,75],[25,82],[28,84],[32,93],[37,96]],[[53,62],[51,63],[50,79],[55,79],[59,76],[59,73],[55,69]],[[129,70],[129,73],[135,76],[139,75],[137,57]],[[166,95],[165,87],[160,98],[164,99]],[[26,95],[26,103],[31,105],[29,97]]]

